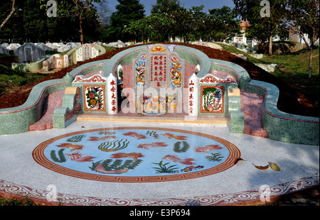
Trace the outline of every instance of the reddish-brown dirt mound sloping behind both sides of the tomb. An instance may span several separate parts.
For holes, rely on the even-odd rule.
[[[266,72],[265,70],[262,70],[260,67],[257,67],[256,65],[252,64],[252,62],[247,62],[246,60],[243,60],[240,57],[232,55],[223,50],[216,50],[201,45],[191,45],[184,43],[176,44],[186,45],[188,47],[201,50],[203,53],[206,53],[206,55],[208,55],[208,57],[212,59],[234,62],[245,68],[245,70],[247,70],[247,72],[249,73],[251,79],[260,80],[263,82],[270,82],[276,85],[280,91],[279,101],[277,104],[279,110],[290,114],[319,117],[319,104],[317,104],[315,101],[311,101],[311,99],[306,97],[301,92],[297,91],[297,89],[290,87],[289,85],[282,82],[282,80],[277,79],[277,77],[271,75],[269,72]],[[43,82],[50,79],[60,79],[64,77],[67,72],[70,72],[71,70],[75,69],[76,67],[79,67],[80,65],[83,65],[86,62],[110,59],[112,56],[119,53],[120,51],[127,50],[131,47],[134,46],[112,50],[111,52],[105,53],[104,55],[100,55],[99,57],[95,57],[90,60],[85,60],[83,62],[78,62],[77,65],[73,65],[71,67],[55,72],[54,74],[48,75],[47,77],[44,77],[43,79],[40,79],[36,82],[26,84],[22,87],[19,87],[18,89],[15,89],[13,92],[9,94],[4,94],[0,97],[0,109],[11,108],[23,104],[26,101],[26,99],[28,99],[28,95],[30,94],[31,89],[39,82]]]

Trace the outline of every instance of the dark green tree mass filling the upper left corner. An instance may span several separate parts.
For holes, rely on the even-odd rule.
[[[81,13],[75,13],[75,0],[55,1],[57,16],[48,17],[47,0],[16,0],[14,13],[1,29],[0,42],[79,42],[81,35],[86,42],[99,40],[103,26],[95,6],[104,0],[82,0],[86,4],[82,4]],[[0,21],[9,15],[11,6],[11,0],[1,2]],[[82,16],[82,34],[79,15]]]

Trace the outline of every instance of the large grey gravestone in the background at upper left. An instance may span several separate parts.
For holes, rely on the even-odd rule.
[[[14,50],[14,54],[18,56],[18,62],[36,62],[41,57],[46,56],[46,51],[38,47],[34,43],[24,43],[21,47]]]

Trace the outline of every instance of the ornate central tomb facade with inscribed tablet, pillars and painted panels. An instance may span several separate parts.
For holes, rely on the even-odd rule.
[[[98,67],[100,71],[93,71]],[[238,84],[250,77],[241,68],[237,72],[215,64],[199,50],[143,45],[92,63],[92,71],[87,65],[83,68],[70,72],[72,87],[82,93],[83,114],[78,120],[162,116],[170,122],[228,123],[233,119],[233,131],[243,132]]]

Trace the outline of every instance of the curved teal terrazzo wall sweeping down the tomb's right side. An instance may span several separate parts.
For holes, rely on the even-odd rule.
[[[319,118],[287,114],[277,109],[279,89],[273,84],[251,80],[244,89],[264,97],[262,127],[269,138],[286,143],[319,145]]]

